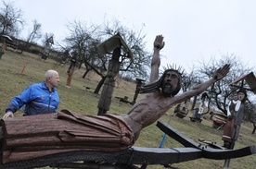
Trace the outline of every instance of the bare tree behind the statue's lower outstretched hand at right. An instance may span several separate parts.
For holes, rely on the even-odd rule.
[[[229,84],[237,78],[241,78],[242,76],[252,72],[253,67],[249,67],[243,64],[243,62],[238,58],[235,54],[226,54],[223,55],[222,59],[216,60],[211,58],[209,63],[201,62],[200,66],[198,66],[198,73],[200,78],[209,78],[211,73],[216,67],[222,66],[224,63],[231,64],[231,69],[227,76],[222,80],[216,82],[207,90],[211,97],[211,107],[218,109],[223,112],[225,115],[227,113],[226,105],[229,102],[230,95],[233,91],[237,91],[237,87],[242,86],[242,82],[239,82],[237,86],[230,86]],[[250,87],[246,82],[243,84],[244,88],[249,89]],[[255,132],[255,124],[256,124],[256,113],[255,113],[255,102],[251,102],[253,100],[254,93],[248,92],[249,102],[246,103],[245,116],[244,119],[250,121],[254,129],[252,133]],[[252,98],[252,99],[251,99]]]

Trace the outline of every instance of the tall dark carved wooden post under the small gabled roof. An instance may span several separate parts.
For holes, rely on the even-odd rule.
[[[109,67],[107,72],[107,77],[103,84],[103,90],[101,91],[101,96],[97,104],[98,113],[97,115],[106,114],[109,111],[109,106],[111,104],[112,94],[115,88],[115,78],[119,74],[121,62],[119,62],[119,57],[121,50],[117,47],[113,54],[111,60],[109,60]]]

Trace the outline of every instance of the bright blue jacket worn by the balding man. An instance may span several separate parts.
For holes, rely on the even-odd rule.
[[[55,113],[58,111],[58,91],[56,88],[49,91],[45,82],[34,83],[14,97],[6,108],[7,112],[15,113],[23,105],[25,106],[24,115],[40,115]]]

